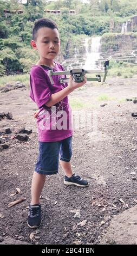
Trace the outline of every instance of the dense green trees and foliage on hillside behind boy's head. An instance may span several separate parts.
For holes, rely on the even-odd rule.
[[[10,10],[7,17],[4,16],[4,9]],[[15,9],[23,10],[23,13],[14,12]],[[44,9],[60,9],[61,14],[47,14]],[[70,9],[76,10],[76,14],[70,15]],[[113,31],[113,26],[110,29],[110,22],[113,21],[115,31],[120,32],[122,22],[134,15],[137,15],[136,0],[131,0],[130,3],[127,0],[90,0],[88,4],[81,0],[28,0],[26,4],[18,0],[0,0],[0,76],[17,70],[29,72],[31,65],[37,62],[38,54],[32,50],[30,40],[34,21],[41,17],[48,17],[57,23],[63,59],[75,54],[75,46],[79,48],[83,36],[106,36],[102,50],[118,50],[116,34],[108,34]],[[137,32],[135,26],[133,31]],[[133,36],[136,38],[137,33]],[[110,70],[117,68],[113,66]]]

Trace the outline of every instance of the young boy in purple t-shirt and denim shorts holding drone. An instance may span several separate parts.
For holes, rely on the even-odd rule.
[[[45,182],[45,175],[58,172],[58,157],[64,170],[64,184],[80,187],[88,186],[88,182],[71,169],[71,109],[68,94],[86,83],[75,83],[70,76],[69,85],[61,84],[59,77],[54,76],[51,84],[48,71],[62,71],[63,66],[54,61],[60,51],[60,35],[57,25],[48,19],[40,19],[32,31],[31,46],[38,51],[40,59],[30,71],[30,97],[36,102],[39,112],[37,117],[39,155],[32,177],[31,203],[29,205],[27,224],[30,228],[38,228],[41,224],[40,196]],[[65,114],[64,114],[65,112]],[[63,119],[61,115],[63,114]],[[62,124],[63,122],[63,129]]]

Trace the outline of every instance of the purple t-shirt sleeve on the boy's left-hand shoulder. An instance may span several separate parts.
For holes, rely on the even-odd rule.
[[[30,97],[34,100],[38,108],[42,107],[51,99],[49,88],[49,78],[40,67],[31,69],[30,72]]]

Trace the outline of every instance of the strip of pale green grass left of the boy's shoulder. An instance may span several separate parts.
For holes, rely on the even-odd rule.
[[[29,74],[0,77],[0,87],[5,86],[6,83],[14,83],[17,81],[22,82],[25,86],[29,86]]]

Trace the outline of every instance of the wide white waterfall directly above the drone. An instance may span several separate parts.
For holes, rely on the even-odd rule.
[[[96,69],[97,68],[97,60],[100,59],[100,45],[101,45],[101,36],[93,36],[92,44],[90,46],[89,52],[89,39],[85,39],[85,48],[86,48],[86,62],[84,64],[84,69]]]

